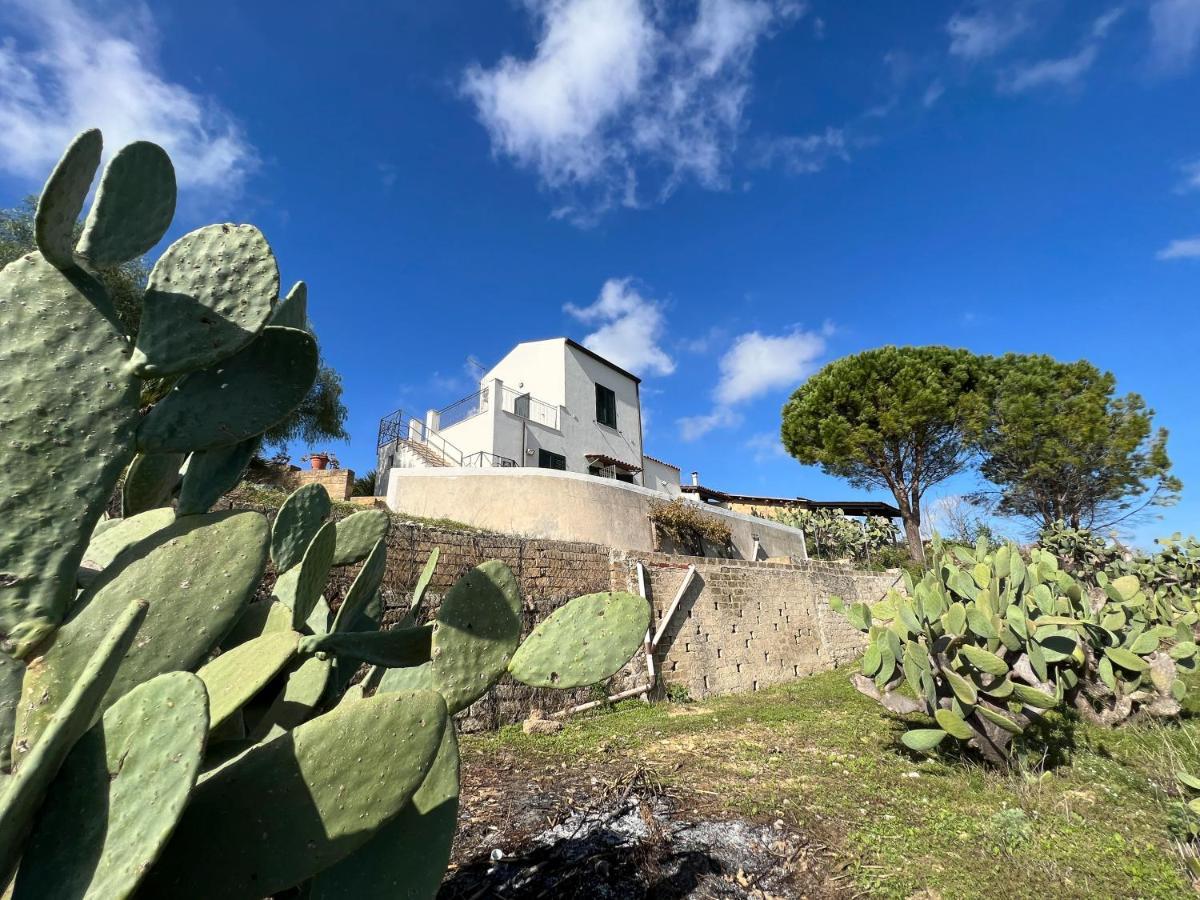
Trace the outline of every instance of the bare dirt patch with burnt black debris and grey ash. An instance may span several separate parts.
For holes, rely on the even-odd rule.
[[[653,769],[464,760],[442,900],[841,898],[828,850],[752,822]]]

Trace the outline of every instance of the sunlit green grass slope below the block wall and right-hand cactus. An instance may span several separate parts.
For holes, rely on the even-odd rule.
[[[1001,773],[910,754],[904,724],[838,671],[698,704],[628,701],[558,734],[508,727],[463,748],[468,764],[509,749],[654,767],[709,809],[784,818],[828,845],[871,896],[1168,898],[1192,893],[1169,824],[1174,773],[1200,772],[1196,721],[1064,722],[1067,762]]]

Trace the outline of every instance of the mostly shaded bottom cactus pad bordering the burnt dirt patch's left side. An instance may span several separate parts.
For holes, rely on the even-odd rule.
[[[308,900],[436,896],[458,821],[458,740],[446,726],[421,788],[400,815],[346,859],[312,880]]]

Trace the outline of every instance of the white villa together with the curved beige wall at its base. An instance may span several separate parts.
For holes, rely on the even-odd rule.
[[[725,494],[697,473],[680,486],[678,467],[643,449],[640,384],[569,337],[518,343],[470,396],[379,421],[376,494],[398,514],[637,551],[661,548],[652,514],[684,497],[728,526],[738,557],[806,558],[802,532],[752,514],[829,504]],[[886,515],[875,506],[887,504],[854,505]]]

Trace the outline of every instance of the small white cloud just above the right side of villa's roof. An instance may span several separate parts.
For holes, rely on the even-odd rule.
[[[666,331],[662,304],[642,296],[632,278],[608,278],[594,302],[563,308],[580,322],[599,325],[581,341],[589,350],[636,376],[674,372],[674,360],[659,346]]]

